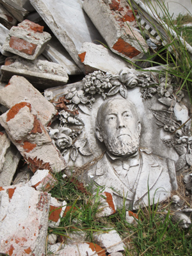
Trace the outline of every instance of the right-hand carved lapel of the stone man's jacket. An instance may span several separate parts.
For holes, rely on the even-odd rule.
[[[156,184],[163,170],[152,155],[141,153],[141,159],[141,174],[136,188],[134,202],[148,193],[148,189],[150,190]]]

